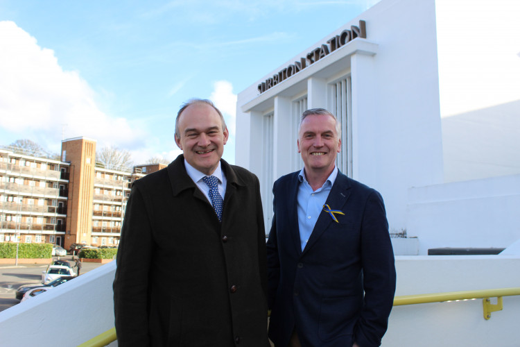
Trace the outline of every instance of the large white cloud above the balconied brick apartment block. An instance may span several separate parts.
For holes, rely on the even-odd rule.
[[[135,146],[144,136],[123,117],[98,108],[77,71],[64,71],[51,49],[14,22],[0,22],[0,127],[59,151],[64,137],[91,137],[98,146]]]

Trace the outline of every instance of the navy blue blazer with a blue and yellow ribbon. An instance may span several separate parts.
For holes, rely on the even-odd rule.
[[[395,294],[395,264],[383,198],[338,172],[304,250],[297,217],[298,173],[279,178],[267,242],[269,337],[286,347],[379,346]]]

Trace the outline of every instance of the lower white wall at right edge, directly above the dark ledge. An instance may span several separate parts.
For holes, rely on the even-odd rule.
[[[507,248],[520,239],[520,175],[410,188],[408,236],[428,248]],[[520,273],[520,269],[519,269]]]

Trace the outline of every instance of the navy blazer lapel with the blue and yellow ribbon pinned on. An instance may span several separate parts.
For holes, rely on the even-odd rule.
[[[327,197],[326,204],[329,205],[331,210],[342,210],[343,206],[347,202],[347,199],[350,195],[350,183],[347,176],[342,174],[340,171],[338,171],[338,176],[336,176],[336,180],[334,181],[334,184],[332,185],[331,192],[329,193],[329,196]],[[309,248],[312,248],[312,246],[315,244],[315,242],[318,241],[320,236],[323,234],[327,228],[329,228],[329,225],[331,223],[335,223],[331,215],[327,212],[320,213],[320,216],[318,217],[318,221],[316,221],[316,224],[314,226],[313,232],[311,233],[311,237],[309,237],[309,242],[307,242],[302,255],[309,251]]]

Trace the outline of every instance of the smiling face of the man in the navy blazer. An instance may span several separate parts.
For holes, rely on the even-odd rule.
[[[308,115],[298,134],[298,152],[302,153],[305,173],[330,174],[341,149],[336,119],[330,115]]]

